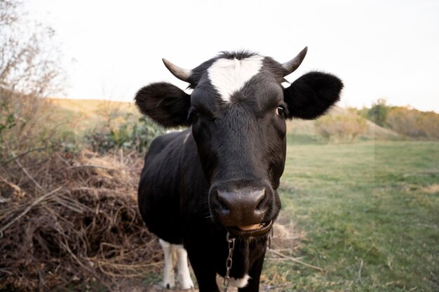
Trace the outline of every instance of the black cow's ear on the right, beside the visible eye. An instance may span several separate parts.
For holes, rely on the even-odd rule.
[[[339,101],[342,88],[342,81],[332,74],[304,74],[283,90],[289,118],[318,118]]]

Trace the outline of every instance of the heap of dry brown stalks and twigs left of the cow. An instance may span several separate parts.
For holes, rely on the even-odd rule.
[[[141,165],[84,152],[0,168],[0,291],[112,290],[115,278],[157,272],[135,197]]]

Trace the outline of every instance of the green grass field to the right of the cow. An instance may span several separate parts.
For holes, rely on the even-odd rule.
[[[266,278],[282,275],[279,291],[439,291],[439,142],[288,138],[281,214],[306,232],[292,256],[325,272],[266,261]]]

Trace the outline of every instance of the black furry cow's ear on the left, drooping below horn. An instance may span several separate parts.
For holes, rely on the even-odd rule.
[[[151,83],[137,92],[135,104],[141,113],[164,127],[185,126],[191,95],[170,83]]]

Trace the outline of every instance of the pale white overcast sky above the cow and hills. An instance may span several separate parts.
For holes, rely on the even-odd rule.
[[[287,77],[320,70],[344,81],[340,106],[388,104],[439,113],[437,0],[27,0],[29,15],[56,32],[65,95],[133,101],[156,81],[184,89],[162,57],[191,69],[224,50],[286,62]]]

